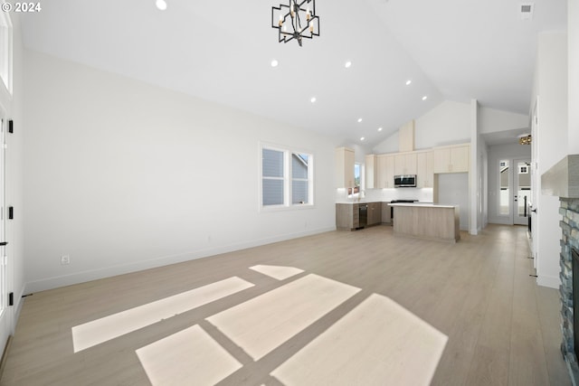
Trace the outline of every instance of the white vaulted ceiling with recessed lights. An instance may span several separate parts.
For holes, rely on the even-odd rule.
[[[317,0],[299,47],[271,28],[288,0],[166,1],[43,1],[24,45],[373,146],[444,99],[527,114],[536,35],[566,28],[566,0],[535,0],[532,20],[513,0]]]

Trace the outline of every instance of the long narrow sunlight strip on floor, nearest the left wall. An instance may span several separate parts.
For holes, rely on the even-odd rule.
[[[253,286],[252,283],[242,278],[226,278],[173,297],[166,297],[143,306],[130,308],[83,325],[75,325],[72,327],[74,353]]]

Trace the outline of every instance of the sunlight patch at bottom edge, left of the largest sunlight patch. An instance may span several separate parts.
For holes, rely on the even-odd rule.
[[[213,385],[242,368],[199,325],[139,348],[137,355],[154,386]]]

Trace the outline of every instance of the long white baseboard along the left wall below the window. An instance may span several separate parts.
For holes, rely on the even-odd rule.
[[[43,278],[41,280],[30,281],[24,285],[23,294],[33,294],[34,292],[45,291],[47,289],[66,287],[74,284],[85,283],[91,280],[100,278],[110,278],[113,276],[123,275],[131,272],[137,272],[144,269],[163,267],[170,264],[182,263],[193,259],[202,259],[209,256],[219,255],[221,253],[232,252],[234,250],[248,249],[252,247],[259,247],[261,245],[271,244],[273,242],[298,239],[300,237],[310,236],[327,231],[336,231],[336,227],[321,228],[312,231],[302,231],[296,233],[289,233],[279,235],[267,239],[252,240],[234,245],[225,245],[212,249],[195,250],[189,253],[164,256],[157,259],[149,259],[146,261],[137,261],[134,263],[104,267],[98,269],[91,269],[88,271],[77,272],[71,275],[59,276],[53,278]]]

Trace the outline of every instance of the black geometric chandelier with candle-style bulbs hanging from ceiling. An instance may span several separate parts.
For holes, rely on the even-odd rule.
[[[279,42],[297,40],[301,47],[303,38],[319,36],[319,17],[316,14],[316,1],[289,0],[289,5],[271,8],[271,28],[278,29]]]

